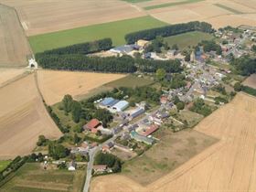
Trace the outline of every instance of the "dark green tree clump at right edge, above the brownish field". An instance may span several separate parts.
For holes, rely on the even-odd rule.
[[[243,76],[249,76],[256,72],[256,59],[251,58],[250,56],[233,59],[231,65],[234,66],[238,74]]]

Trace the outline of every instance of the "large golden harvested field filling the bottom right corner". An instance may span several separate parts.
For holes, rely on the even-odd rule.
[[[91,191],[255,191],[256,99],[238,94],[195,128],[220,141],[147,187],[125,176],[96,177]]]

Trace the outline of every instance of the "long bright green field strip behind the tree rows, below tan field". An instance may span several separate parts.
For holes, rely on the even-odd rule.
[[[104,23],[88,27],[79,27],[59,32],[28,37],[34,53],[52,48],[61,48],[73,44],[112,37],[113,45],[125,44],[124,36],[128,33],[166,24],[152,16],[142,16],[133,19]]]

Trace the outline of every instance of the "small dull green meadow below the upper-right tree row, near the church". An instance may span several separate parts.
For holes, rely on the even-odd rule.
[[[197,46],[202,40],[210,40],[212,38],[213,36],[208,33],[193,31],[172,37],[165,37],[165,42],[167,42],[170,47],[176,44],[178,48],[183,49],[188,46]]]

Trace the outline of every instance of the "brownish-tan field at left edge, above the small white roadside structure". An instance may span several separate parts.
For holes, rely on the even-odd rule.
[[[27,66],[30,48],[16,11],[0,5],[0,67]]]

